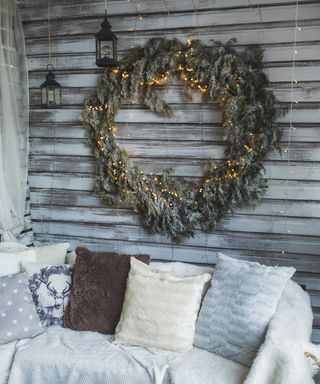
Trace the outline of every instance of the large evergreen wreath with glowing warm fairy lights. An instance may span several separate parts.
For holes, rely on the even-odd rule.
[[[109,204],[118,195],[140,213],[148,231],[176,242],[194,236],[196,228],[213,231],[232,208],[259,201],[267,187],[261,162],[267,152],[279,149],[281,129],[262,71],[262,50],[251,46],[238,53],[234,41],[206,47],[197,40],[151,39],[132,49],[118,67],[106,69],[97,95],[85,103],[82,120],[97,160],[97,193]],[[199,183],[173,177],[170,170],[145,174],[130,164],[115,139],[115,117],[126,100],[138,100],[160,116],[172,115],[156,88],[169,87],[174,79],[223,110],[226,160],[208,160]]]

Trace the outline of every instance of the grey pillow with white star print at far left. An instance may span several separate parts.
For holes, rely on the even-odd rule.
[[[27,274],[0,277],[0,344],[28,339],[43,331]]]

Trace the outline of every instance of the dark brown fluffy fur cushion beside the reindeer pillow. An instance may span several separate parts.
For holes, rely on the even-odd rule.
[[[114,333],[120,319],[130,256],[149,264],[148,255],[126,255],[76,249],[73,287],[63,318],[65,327]]]

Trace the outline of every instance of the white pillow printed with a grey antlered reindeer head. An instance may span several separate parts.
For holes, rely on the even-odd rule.
[[[22,268],[29,275],[29,288],[41,323],[62,325],[72,286],[72,268],[38,263],[22,263]]]

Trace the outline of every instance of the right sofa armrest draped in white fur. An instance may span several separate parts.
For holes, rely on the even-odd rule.
[[[312,318],[308,294],[290,281],[244,384],[314,384],[304,355]]]

